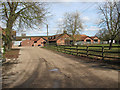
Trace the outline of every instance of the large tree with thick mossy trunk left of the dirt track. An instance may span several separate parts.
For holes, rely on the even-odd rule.
[[[45,20],[48,13],[45,8],[45,3],[39,2],[1,2],[0,16],[6,24],[6,49],[11,49],[12,45],[12,29],[19,28],[34,28],[40,25]]]

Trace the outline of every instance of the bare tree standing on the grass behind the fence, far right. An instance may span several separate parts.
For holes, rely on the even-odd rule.
[[[120,2],[105,2],[99,6],[99,12],[102,15],[99,25],[107,30],[111,49],[113,40],[120,33]]]

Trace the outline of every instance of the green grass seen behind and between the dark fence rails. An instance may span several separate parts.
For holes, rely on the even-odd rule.
[[[88,51],[88,54],[94,54],[94,55],[101,55],[102,56],[102,46],[109,46],[109,44],[97,44],[97,45],[89,45],[89,46],[101,46],[101,47],[88,47],[88,50],[101,51],[101,52]],[[120,46],[120,45],[119,44],[113,44],[113,46]],[[73,55],[77,55],[77,51],[79,52],[78,55],[82,55],[82,56],[86,56],[86,54],[80,54],[80,53],[87,53],[87,51],[85,51],[85,50],[76,50],[76,46],[58,46],[58,49],[57,49],[56,46],[51,45],[51,46],[47,46],[47,47],[44,47],[44,48],[59,51],[59,52],[63,52],[63,53],[67,53],[67,54],[73,54]],[[66,48],[66,49],[64,49],[64,48]],[[78,49],[87,49],[87,47],[85,45],[78,46],[77,48]],[[110,49],[110,50],[109,50],[109,47],[104,47],[104,56],[106,56],[106,57],[119,57],[120,58],[120,51],[119,50],[120,50],[120,47],[119,48],[112,47],[112,49]],[[113,53],[111,53],[111,52],[113,52]],[[115,52],[119,52],[119,53],[115,53]],[[92,56],[92,55],[89,55],[89,57],[102,59],[102,57]],[[114,60],[112,58],[108,58],[108,59],[109,60]]]

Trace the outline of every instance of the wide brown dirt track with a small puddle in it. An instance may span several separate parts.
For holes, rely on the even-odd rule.
[[[118,71],[38,48],[20,48],[4,88],[117,88]],[[12,74],[11,74],[12,73]],[[6,74],[6,75],[7,75]],[[10,75],[9,75],[10,74]]]

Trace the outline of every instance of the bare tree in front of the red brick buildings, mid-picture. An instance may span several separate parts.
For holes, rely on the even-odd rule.
[[[83,29],[80,14],[78,12],[65,13],[59,27],[62,31],[67,31],[71,35],[74,44],[76,41],[75,35]]]

